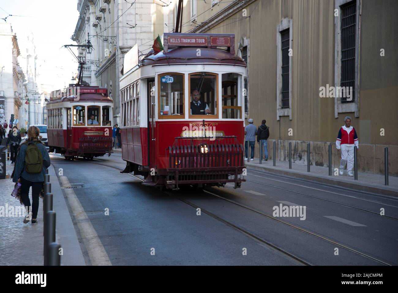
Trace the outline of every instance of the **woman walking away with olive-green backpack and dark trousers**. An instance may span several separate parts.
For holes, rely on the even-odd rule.
[[[12,182],[21,183],[21,200],[28,207],[23,223],[32,219],[32,225],[37,224],[37,211],[39,210],[39,195],[44,183],[46,169],[50,166],[50,156],[45,145],[41,142],[40,130],[31,126],[27,130],[27,140],[21,144],[15,163]],[[32,186],[32,206],[29,200],[29,188]]]

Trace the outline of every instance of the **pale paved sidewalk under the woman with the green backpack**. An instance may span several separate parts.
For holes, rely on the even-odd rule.
[[[6,173],[11,174],[14,165],[6,161]],[[84,266],[84,257],[74,230],[68,207],[51,165],[49,167],[51,192],[53,193],[53,210],[56,212],[56,240],[63,249],[62,266]],[[37,214],[38,224],[23,224],[23,217],[7,213],[1,214],[8,207],[14,210],[22,207],[15,197],[11,196],[14,183],[10,178],[0,180],[0,266],[43,266],[43,201],[39,201]],[[31,189],[29,192],[30,200]]]

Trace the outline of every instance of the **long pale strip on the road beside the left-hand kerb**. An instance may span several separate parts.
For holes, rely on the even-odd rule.
[[[69,180],[66,176],[59,176],[63,186],[70,186]],[[76,223],[82,235],[84,245],[87,248],[88,256],[90,257],[93,266],[111,266],[111,261],[103,248],[100,238],[94,229],[93,225],[88,219],[84,209],[74,193],[73,189],[64,189],[67,195],[70,208],[76,219]]]

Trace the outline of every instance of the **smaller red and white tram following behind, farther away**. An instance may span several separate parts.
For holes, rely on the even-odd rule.
[[[66,95],[54,93],[47,103],[49,151],[71,160],[110,155],[112,105],[106,88],[78,86]]]

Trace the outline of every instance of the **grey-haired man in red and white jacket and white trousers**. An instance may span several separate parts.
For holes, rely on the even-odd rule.
[[[341,150],[339,174],[343,175],[345,163],[347,162],[347,175],[354,176],[352,174],[352,168],[354,166],[354,146],[358,148],[358,137],[355,128],[351,126],[351,117],[346,116],[344,122],[345,125],[340,128],[336,140],[336,148],[339,151]]]

